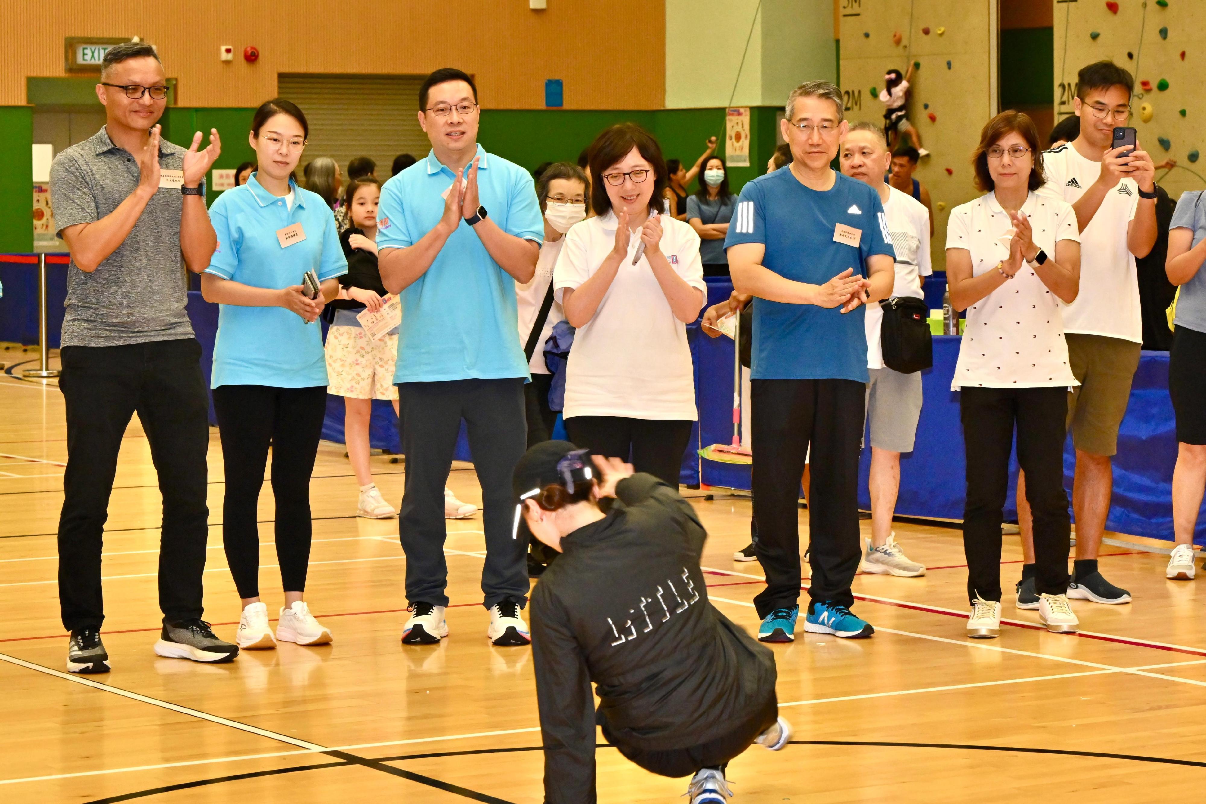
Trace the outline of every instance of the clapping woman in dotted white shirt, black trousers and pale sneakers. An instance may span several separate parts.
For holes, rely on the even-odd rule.
[[[1065,201],[1035,195],[1043,183],[1042,151],[1023,113],[989,121],[972,164],[976,184],[987,193],[952,210],[947,224],[950,304],[967,310],[952,382],[961,391],[967,462],[967,635],[988,639],[1001,628],[1001,521],[1014,428],[1035,517],[1035,608],[1048,630],[1073,633],[1079,622],[1066,595],[1071,523],[1064,439],[1067,389],[1076,378],[1062,309],[1079,289],[1076,212]]]

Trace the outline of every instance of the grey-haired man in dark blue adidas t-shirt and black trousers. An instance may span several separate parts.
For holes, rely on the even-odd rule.
[[[812,601],[804,630],[870,636],[850,614],[859,568],[859,450],[867,382],[863,305],[886,298],[895,252],[879,194],[830,168],[848,124],[825,81],[788,98],[786,170],[742,189],[725,246],[733,287],[754,297],[754,517],[766,589],[762,641],[795,639],[800,476],[812,445]]]

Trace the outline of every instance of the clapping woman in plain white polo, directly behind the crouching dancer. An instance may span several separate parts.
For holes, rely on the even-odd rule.
[[[578,330],[566,368],[566,429],[574,444],[631,456],[637,471],[677,488],[697,418],[686,324],[707,300],[699,235],[657,215],[666,162],[648,131],[613,125],[590,154],[598,217],[569,230],[554,270]]]

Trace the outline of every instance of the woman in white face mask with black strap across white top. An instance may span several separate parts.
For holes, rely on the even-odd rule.
[[[544,212],[544,245],[535,264],[535,276],[515,286],[519,303],[520,344],[528,358],[532,382],[523,387],[527,398],[528,446],[548,441],[557,413],[549,409],[552,374],[544,364],[544,342],[566,313],[552,298],[552,266],[569,228],[586,218],[586,174],[578,165],[557,162],[544,169],[535,183],[535,196]],[[539,324],[539,327],[537,325]]]

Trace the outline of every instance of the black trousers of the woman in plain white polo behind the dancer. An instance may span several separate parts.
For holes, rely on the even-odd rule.
[[[678,488],[683,453],[695,422],[680,418],[574,416],[566,419],[569,440],[609,458],[622,458],[637,471],[646,471]]]

